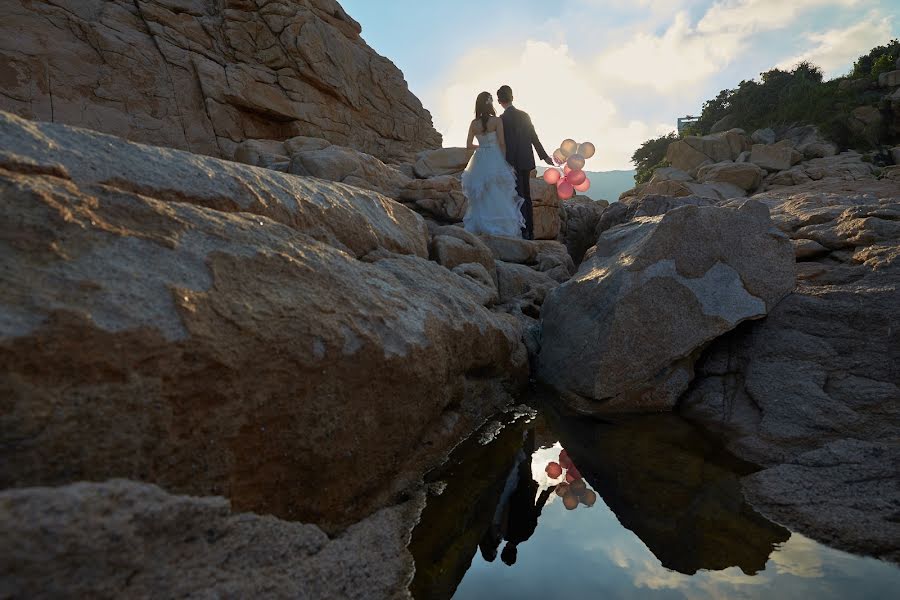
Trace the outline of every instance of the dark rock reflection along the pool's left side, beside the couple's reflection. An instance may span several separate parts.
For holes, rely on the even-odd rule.
[[[410,585],[413,598],[450,598],[472,564],[479,543],[488,554],[486,559],[496,553],[500,532],[493,531],[492,522],[507,479],[512,486],[518,480],[528,427],[520,420],[486,446],[464,444],[454,453],[452,464],[436,475],[447,487],[440,496],[428,498],[409,546],[416,561]],[[485,539],[492,531],[494,540]]]

